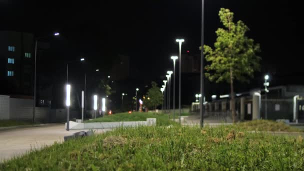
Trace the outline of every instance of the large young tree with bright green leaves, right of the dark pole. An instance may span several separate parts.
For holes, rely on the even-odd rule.
[[[230,83],[230,97],[232,102],[232,120],[235,122],[235,100],[233,81],[249,82],[253,72],[259,70],[260,57],[259,44],[245,36],[249,28],[241,21],[233,22],[233,12],[221,8],[219,13],[220,22],[224,28],[218,28],[214,49],[204,45],[204,54],[207,64],[205,76],[210,81],[226,81]]]

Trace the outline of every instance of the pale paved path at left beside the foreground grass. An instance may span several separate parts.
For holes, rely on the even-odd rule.
[[[97,129],[96,132],[102,133],[107,130],[110,129]],[[55,141],[63,142],[65,135],[71,135],[78,131],[81,130],[66,131],[64,124],[1,130],[0,161],[24,154],[30,148],[51,145]]]

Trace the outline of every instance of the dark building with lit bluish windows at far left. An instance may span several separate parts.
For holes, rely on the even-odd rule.
[[[0,31],[0,94],[32,95],[34,37]]]

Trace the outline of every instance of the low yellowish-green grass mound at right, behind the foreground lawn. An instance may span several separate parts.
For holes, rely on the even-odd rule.
[[[258,131],[288,131],[299,132],[303,131],[295,127],[291,127],[283,122],[276,122],[272,120],[251,120],[237,123],[237,126],[246,130],[258,130]]]

